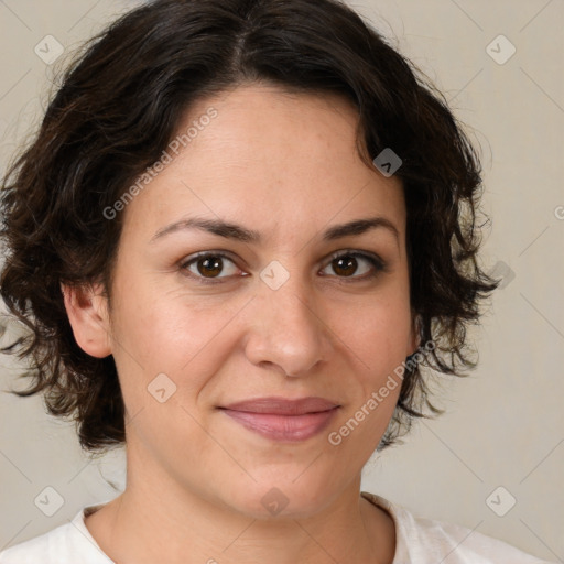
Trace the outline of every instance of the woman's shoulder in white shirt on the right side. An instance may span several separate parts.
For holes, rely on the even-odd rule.
[[[387,510],[395,524],[393,564],[549,564],[510,544],[454,523],[415,517],[376,494],[362,492]]]

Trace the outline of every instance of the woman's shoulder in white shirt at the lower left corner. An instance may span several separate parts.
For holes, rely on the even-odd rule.
[[[85,508],[86,509],[86,508]],[[0,552],[0,564],[111,564],[84,524],[82,509],[72,521]]]

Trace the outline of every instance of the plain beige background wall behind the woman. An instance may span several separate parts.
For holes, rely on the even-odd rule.
[[[45,108],[54,67],[35,45],[53,35],[68,54],[134,3],[0,1],[2,170]],[[484,263],[506,284],[475,333],[478,369],[441,379],[447,413],[375,456],[364,489],[564,562],[564,2],[350,3],[435,82],[481,145],[492,216]],[[0,360],[4,390],[15,369]],[[40,399],[0,393],[0,550],[115,497],[105,478],[123,485],[122,453],[85,458],[72,425],[45,415]],[[34,505],[48,486],[64,499],[53,517]]]

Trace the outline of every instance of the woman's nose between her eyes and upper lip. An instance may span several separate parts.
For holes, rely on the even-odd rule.
[[[291,275],[278,290],[258,282],[247,312],[246,355],[257,366],[301,377],[329,358],[332,332],[306,281]]]

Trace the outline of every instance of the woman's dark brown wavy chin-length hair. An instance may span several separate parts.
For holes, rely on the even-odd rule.
[[[50,413],[76,421],[85,449],[124,442],[124,405],[112,357],[75,341],[61,284],[101,281],[111,297],[121,216],[104,210],[159,160],[196,100],[257,82],[343,96],[358,109],[364,161],[387,148],[403,161],[411,307],[434,348],[408,365],[379,448],[441,412],[422,365],[455,376],[476,366],[466,329],[499,282],[477,260],[479,160],[443,96],[337,0],[155,0],[84,45],[2,180],[0,294],[26,327],[3,350],[31,379],[12,391],[43,392]]]

